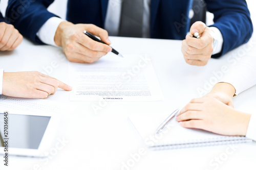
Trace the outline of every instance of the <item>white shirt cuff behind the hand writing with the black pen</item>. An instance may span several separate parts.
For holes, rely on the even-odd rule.
[[[57,46],[54,42],[54,36],[60,22],[62,21],[65,20],[58,17],[51,17],[36,33],[37,37],[46,44]]]

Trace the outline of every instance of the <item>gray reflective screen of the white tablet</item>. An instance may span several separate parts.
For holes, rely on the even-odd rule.
[[[8,114],[9,147],[38,149],[50,118],[50,116]],[[1,147],[3,147],[3,139],[5,138],[4,125],[4,114],[0,113]]]

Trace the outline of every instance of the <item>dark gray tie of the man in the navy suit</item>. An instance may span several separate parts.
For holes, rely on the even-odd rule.
[[[119,36],[142,37],[143,1],[144,0],[123,0]]]

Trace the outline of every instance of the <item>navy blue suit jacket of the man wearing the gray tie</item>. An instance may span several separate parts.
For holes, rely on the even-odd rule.
[[[7,19],[24,36],[42,43],[36,33],[50,18],[47,11],[54,0],[9,0]],[[214,27],[224,39],[223,55],[247,42],[252,34],[252,22],[245,0],[205,0],[209,12],[214,13]],[[69,0],[67,20],[73,23],[93,23],[104,28],[108,0]],[[193,0],[152,0],[151,38],[184,39],[189,31],[188,12]],[[218,55],[218,56],[220,56]],[[215,56],[215,57],[218,57]]]

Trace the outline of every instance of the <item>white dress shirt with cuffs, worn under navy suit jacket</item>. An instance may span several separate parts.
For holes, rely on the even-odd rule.
[[[108,31],[110,36],[117,36],[119,31],[119,22],[121,15],[123,0],[109,0],[108,9],[105,18],[105,30]],[[151,0],[144,0],[144,13],[143,13],[143,38],[150,38],[150,4]],[[49,45],[56,46],[54,42],[54,35],[60,22],[63,19],[52,17],[40,28],[37,32],[38,38]],[[218,44],[212,55],[218,54],[222,50],[223,37],[220,30],[216,27],[210,27],[214,32],[215,38],[218,39]]]

